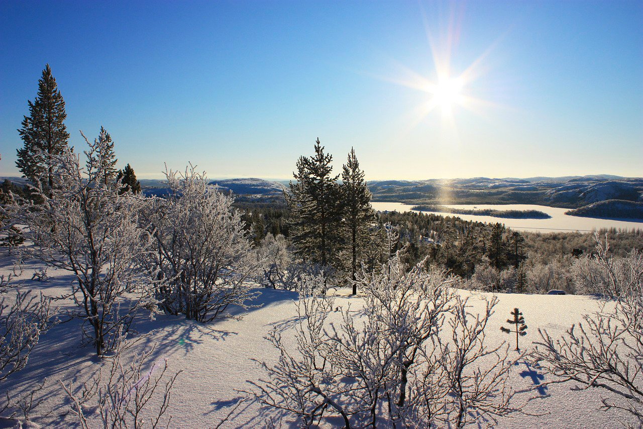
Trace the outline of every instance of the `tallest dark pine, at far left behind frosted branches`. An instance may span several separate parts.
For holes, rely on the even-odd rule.
[[[64,124],[67,118],[65,100],[49,64],[42,70],[37,97],[28,103],[29,116],[24,117],[22,128],[18,130],[24,146],[17,150],[15,165],[32,184],[40,181],[43,189],[53,189],[53,167],[57,162],[53,157],[67,146],[69,133]]]

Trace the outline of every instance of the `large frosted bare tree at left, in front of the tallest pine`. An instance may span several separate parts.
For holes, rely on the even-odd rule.
[[[84,167],[63,148],[51,155],[51,176],[59,186],[45,189],[37,180],[32,189],[42,204],[17,199],[3,210],[14,224],[28,226],[24,238],[33,245],[24,247],[24,256],[73,274],[69,298],[77,310],[71,315],[84,319],[83,332],[102,356],[127,334],[134,313],[149,308],[154,274],[139,264],[151,243],[138,226],[143,198],[105,186],[105,133],[91,143],[84,138]]]

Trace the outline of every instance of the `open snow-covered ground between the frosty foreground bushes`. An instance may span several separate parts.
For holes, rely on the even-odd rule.
[[[6,256],[6,249],[0,250],[2,274],[13,272],[14,262]],[[48,296],[60,296],[68,292],[72,278],[66,273],[48,270],[47,281],[32,281],[33,271],[39,265],[23,266],[16,280],[24,280],[24,289],[42,291]],[[153,361],[167,359],[170,372],[182,370],[172,390],[172,403],[168,414],[172,415],[171,428],[211,428],[217,426],[222,417],[230,412],[230,405],[236,403],[240,394],[237,390],[248,389],[246,380],[257,380],[265,374],[251,358],[270,363],[275,361],[277,352],[264,336],[276,327],[285,341],[292,343],[293,325],[297,321],[294,292],[260,289],[261,296],[255,303],[260,307],[239,310],[241,320],[224,320],[203,325],[178,316],[157,316],[155,320],[141,314],[134,329],[140,332],[141,341],[127,351],[129,356],[143,348],[156,345]],[[348,291],[336,294],[336,305],[351,305],[357,311],[361,298],[346,296]],[[471,292],[461,291],[462,294]],[[485,296],[474,294],[470,303],[472,311],[480,305]],[[583,314],[598,309],[597,300],[588,296],[547,296],[498,294],[498,305],[488,327],[489,345],[512,339],[503,334],[500,326],[505,325],[509,312],[519,307],[529,325],[527,336],[521,338],[521,345],[531,347],[530,343],[538,338],[538,328],[547,329],[554,338],[562,334],[573,323],[581,320]],[[10,296],[6,296],[10,298]],[[71,308],[69,301],[58,301],[62,309]],[[333,313],[339,315],[340,312]],[[72,320],[53,327],[33,350],[27,367],[4,383],[3,391],[12,394],[26,390],[47,379],[41,394],[44,401],[31,415],[33,423],[42,427],[74,427],[73,415],[69,414],[69,401],[60,381],[82,383],[100,367],[91,346],[80,347],[80,327]],[[151,365],[151,362],[150,362]],[[106,367],[107,365],[105,365]],[[543,380],[536,368],[529,367],[524,361],[515,365],[511,380],[516,390],[533,386]],[[547,381],[545,379],[545,381]],[[599,410],[603,390],[590,389],[572,391],[572,385],[549,385],[530,394],[538,396],[522,409],[527,414],[514,414],[498,421],[501,428],[615,428],[623,426],[623,414],[610,414]],[[524,396],[518,396],[521,403]],[[224,428],[262,427],[267,410],[258,405],[244,404],[239,414],[231,421],[222,424]],[[531,415],[528,415],[531,414]],[[0,427],[17,427],[15,422],[2,421]],[[283,427],[296,427],[282,421]],[[632,422],[633,423],[633,422]]]

